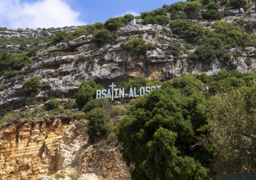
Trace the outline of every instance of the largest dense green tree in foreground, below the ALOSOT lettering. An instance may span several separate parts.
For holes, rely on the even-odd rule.
[[[207,179],[207,170],[191,155],[194,139],[187,99],[175,91],[153,90],[135,100],[115,127],[132,179]]]

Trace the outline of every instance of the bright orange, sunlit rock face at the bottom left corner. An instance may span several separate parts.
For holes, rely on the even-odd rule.
[[[0,179],[37,179],[57,168],[57,149],[69,118],[20,122],[0,131]]]

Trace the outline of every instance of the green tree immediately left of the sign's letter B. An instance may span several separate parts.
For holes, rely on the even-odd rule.
[[[96,84],[92,79],[89,82],[80,84],[78,93],[74,95],[79,106],[84,106],[88,101],[96,98],[97,89],[103,89],[100,84]]]

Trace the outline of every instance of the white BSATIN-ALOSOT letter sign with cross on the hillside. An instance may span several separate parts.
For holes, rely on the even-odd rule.
[[[122,97],[140,97],[147,95],[150,93],[152,89],[160,88],[161,86],[147,86],[147,87],[141,87],[139,94],[136,94],[136,87],[130,88],[129,94],[124,93],[124,88],[114,88],[116,85],[112,83],[109,87],[112,88],[112,91],[110,89],[106,90],[97,90],[96,98],[110,98],[112,101],[114,98],[122,98]]]

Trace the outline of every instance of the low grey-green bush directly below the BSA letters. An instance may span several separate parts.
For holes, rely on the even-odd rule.
[[[105,108],[107,111],[109,111],[109,109],[111,108],[111,104],[109,100],[106,98],[93,99],[86,103],[83,110],[84,112],[88,112],[95,107],[102,107],[102,108]]]

